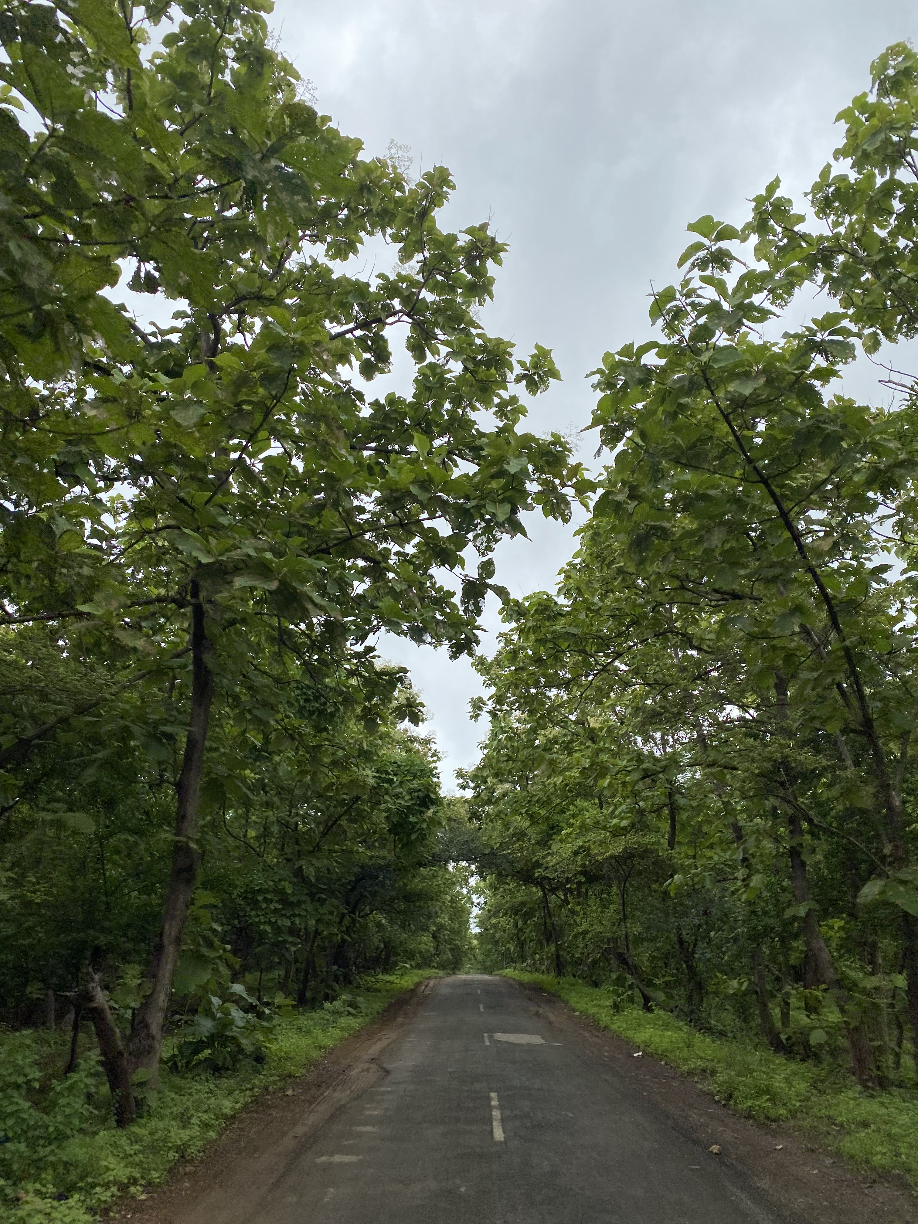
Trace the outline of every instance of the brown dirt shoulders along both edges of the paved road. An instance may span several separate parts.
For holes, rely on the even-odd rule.
[[[745,1177],[787,1224],[918,1224],[918,1200],[905,1186],[859,1176],[789,1126],[737,1118],[681,1072],[649,1054],[635,1058],[634,1045],[577,1015],[556,995],[518,987],[559,1040],[602,1059],[703,1149],[720,1147],[716,1159]],[[428,989],[430,982],[424,982],[400,995],[306,1075],[263,1093],[203,1157],[180,1163],[170,1181],[148,1196],[120,1200],[108,1220],[242,1224],[257,1218],[267,1190],[332,1114],[388,1073],[383,1051],[411,1023]]]

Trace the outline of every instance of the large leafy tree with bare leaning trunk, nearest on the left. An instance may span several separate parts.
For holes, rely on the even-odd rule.
[[[15,789],[29,752],[113,688],[166,685],[186,718],[127,1050],[94,996],[125,1116],[131,1077],[159,1064],[214,700],[272,650],[282,676],[360,667],[353,646],[379,629],[470,651],[494,545],[590,487],[561,437],[517,428],[514,386],[557,377],[550,351],[515,364],[476,322],[502,244],[439,230],[446,170],[409,186],[300,100],[264,11],[21,2],[0,26],[4,619],[53,624],[108,677],[11,721],[0,766]],[[390,273],[354,274],[370,240]],[[175,304],[174,326],[113,305],[122,269]],[[372,398],[393,328],[411,390]]]

